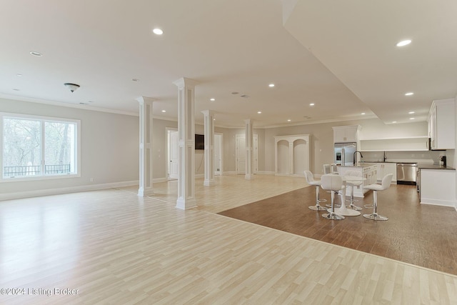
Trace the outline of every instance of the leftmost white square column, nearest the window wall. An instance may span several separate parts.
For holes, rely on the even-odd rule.
[[[138,196],[151,196],[152,187],[152,104],[154,99],[141,96],[140,104],[140,182]]]

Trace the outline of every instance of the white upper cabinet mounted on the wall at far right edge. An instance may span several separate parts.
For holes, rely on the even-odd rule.
[[[455,99],[433,101],[428,114],[431,149],[456,149]]]

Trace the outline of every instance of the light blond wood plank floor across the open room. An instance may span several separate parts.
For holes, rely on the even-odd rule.
[[[0,304],[457,304],[456,276],[215,214],[303,180],[197,179],[189,211],[176,181],[0,202],[0,288],[25,289]]]

